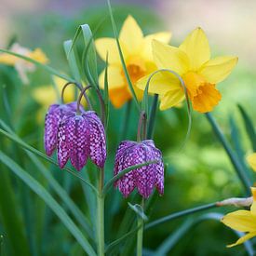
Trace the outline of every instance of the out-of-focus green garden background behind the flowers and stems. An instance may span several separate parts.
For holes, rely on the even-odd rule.
[[[19,11],[21,6],[17,1],[4,1],[0,9],[0,24],[3,32],[0,37],[1,47],[10,47],[13,42],[32,49],[41,47],[51,66],[64,74],[70,74],[62,42],[73,38],[80,24],[88,23],[94,31],[102,17],[108,15],[105,3],[102,5],[103,3],[98,1],[99,5],[92,7],[89,2],[86,4],[82,2],[73,1],[72,6],[68,6],[68,3],[63,4],[61,1],[55,2],[56,4],[47,1],[42,3],[28,1],[27,6],[23,6],[22,11]],[[118,4],[118,2],[115,3]],[[250,31],[252,28],[249,25],[255,19],[253,16],[253,10],[256,9],[255,3],[248,1],[245,6],[238,1],[220,1],[212,2],[210,7],[207,3],[195,0],[186,4],[178,1],[158,3],[158,1],[152,1],[145,7],[146,4],[143,1],[140,6],[129,6],[126,2],[126,5],[116,6],[114,13],[117,28],[120,29],[123,20],[131,14],[138,20],[145,34],[170,30],[172,34],[176,34],[174,40],[179,36],[182,40],[184,34],[201,25],[209,36],[215,56],[222,53],[239,56],[235,72],[219,86],[222,101],[215,108],[213,115],[218,119],[237,157],[253,181],[254,173],[249,170],[245,156],[256,151],[255,118],[253,118],[256,116],[254,82],[256,74],[253,70],[256,59],[252,54],[256,37]],[[14,14],[15,19],[13,19]],[[95,34],[96,38],[102,36],[113,37],[109,19],[104,20]],[[178,46],[181,40],[172,44]],[[80,47],[83,47],[82,43],[80,44]],[[104,63],[100,59],[99,63],[100,74]],[[57,99],[52,88],[54,83],[58,88],[59,82],[54,81],[54,77],[40,68],[28,73],[28,77],[29,84],[23,85],[12,67],[0,63],[0,117],[23,141],[43,151],[43,123],[46,106],[49,103],[47,100]],[[47,85],[48,90],[44,90]],[[66,97],[68,100],[68,97],[73,96],[66,95]],[[135,116],[137,117],[137,113],[134,105],[130,107],[132,121],[128,122],[126,127],[124,116],[128,111],[128,105],[118,110],[111,107],[110,110],[108,152],[111,161],[106,165],[107,179],[113,175],[113,160],[118,142],[124,137],[130,140],[136,139],[136,125],[133,120]],[[212,133],[204,115],[193,114],[191,136],[182,149],[187,128],[185,108],[157,112],[156,118],[155,144],[162,149],[165,156],[166,181],[165,195],[155,200],[150,215],[151,220],[226,197],[245,195],[234,168]],[[3,128],[3,124],[0,125]],[[48,170],[75,204],[86,212],[87,216],[93,216],[95,205],[93,198],[88,196],[90,191],[68,173],[24,152],[2,135],[0,148],[43,184],[68,214],[74,216],[72,215],[74,212],[70,210],[70,202],[63,201],[66,195],[60,195],[60,189],[56,189],[56,187],[59,188],[58,184],[50,183],[44,175]],[[86,179],[88,176],[93,179],[94,170],[91,167],[88,169],[91,170],[90,173],[83,170],[81,175]],[[2,163],[0,175],[0,235],[4,235],[4,238],[0,238],[0,253],[28,255],[30,251],[32,255],[57,253],[83,255],[80,246],[51,209],[48,209],[47,205]],[[129,228],[128,222],[121,223],[124,214],[134,215],[131,209],[125,213],[128,202],[132,201],[131,198],[124,200],[118,192],[113,190],[111,193],[115,196],[115,200],[110,201],[107,197],[106,202],[106,205],[111,206],[106,208],[108,220],[106,236],[110,239],[108,243],[123,235],[125,229]],[[231,211],[233,208],[214,209],[214,212],[225,213],[228,210]],[[193,229],[182,233],[181,230],[186,230],[186,225],[189,226],[190,220],[194,220],[195,216],[193,215],[192,219],[186,222],[179,219],[149,229],[144,233],[144,248],[149,254],[156,250],[159,255],[246,254],[243,246],[235,249],[225,248],[226,244],[236,240],[236,234],[214,218],[209,218],[206,222],[197,222]],[[83,223],[78,224],[83,225]],[[177,230],[178,233],[175,233]],[[5,238],[6,234],[7,238]],[[173,236],[174,234],[176,236]],[[133,249],[133,246],[125,243],[124,248],[127,250],[124,250],[122,255],[130,255],[129,249]],[[112,253],[115,255],[115,252]]]

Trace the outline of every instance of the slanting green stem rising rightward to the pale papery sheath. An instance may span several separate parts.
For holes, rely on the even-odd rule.
[[[152,227],[154,227],[158,224],[168,222],[168,221],[171,221],[171,220],[174,220],[174,219],[178,219],[182,216],[186,216],[186,215],[198,212],[198,211],[202,211],[202,210],[205,210],[205,209],[212,209],[212,208],[216,208],[216,207],[219,207],[219,205],[217,203],[211,203],[211,204],[208,204],[208,205],[203,205],[203,206],[199,206],[199,207],[192,208],[192,209],[185,209],[185,210],[182,210],[182,211],[178,211],[178,212],[169,214],[166,217],[160,218],[160,219],[156,220],[155,222],[148,223],[145,226],[145,229],[152,228]]]

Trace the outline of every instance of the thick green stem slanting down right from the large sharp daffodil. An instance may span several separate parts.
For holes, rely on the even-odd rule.
[[[218,126],[214,117],[210,113],[207,113],[206,116],[207,116],[207,119],[209,121],[211,128],[213,129],[213,131],[216,134],[219,141],[222,143],[222,146],[223,146],[226,154],[229,156],[229,159],[236,170],[237,176],[239,177],[240,181],[244,185],[247,195],[250,195],[249,187],[251,186],[251,183],[249,181],[248,176],[246,175],[246,171],[244,170],[241,163],[239,162],[236,155],[234,154],[232,148],[229,145],[229,142],[226,140],[226,138],[224,137],[224,135],[222,133],[222,129]]]

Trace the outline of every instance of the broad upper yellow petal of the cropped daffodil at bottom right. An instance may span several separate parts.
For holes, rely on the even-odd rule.
[[[222,218],[222,222],[240,232],[256,231],[256,217],[249,210],[239,209],[228,213]]]

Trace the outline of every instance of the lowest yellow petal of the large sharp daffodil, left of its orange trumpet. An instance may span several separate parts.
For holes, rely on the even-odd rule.
[[[182,88],[169,91],[160,96],[160,110],[167,110],[173,106],[180,104],[184,100],[184,91]]]

